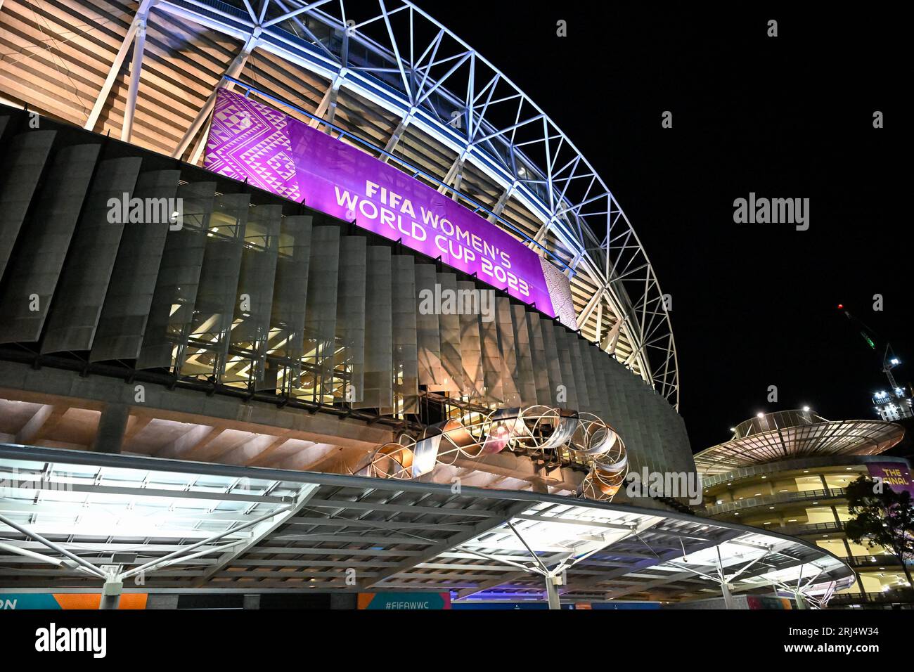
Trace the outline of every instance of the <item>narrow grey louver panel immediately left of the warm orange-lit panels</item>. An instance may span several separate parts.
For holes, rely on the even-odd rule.
[[[419,348],[416,322],[415,260],[408,254],[391,258],[393,303],[393,382],[404,413],[419,412]],[[392,413],[394,409],[384,409]]]

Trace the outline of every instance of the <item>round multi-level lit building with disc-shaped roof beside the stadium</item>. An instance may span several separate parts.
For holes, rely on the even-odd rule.
[[[898,559],[845,534],[846,487],[858,476],[911,491],[910,464],[883,454],[904,436],[885,421],[827,421],[812,411],[760,414],[696,453],[707,515],[803,539],[844,560],[856,584],[834,606],[910,603]]]

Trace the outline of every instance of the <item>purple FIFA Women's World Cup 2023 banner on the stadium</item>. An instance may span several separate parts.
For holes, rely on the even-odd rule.
[[[220,89],[206,167],[420,251],[555,317],[543,264],[504,230],[306,123]]]

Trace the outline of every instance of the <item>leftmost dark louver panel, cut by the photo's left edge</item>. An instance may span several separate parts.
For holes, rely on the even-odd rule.
[[[3,118],[4,121],[8,117]],[[0,131],[2,133],[2,131]],[[41,171],[57,131],[32,131],[16,135],[3,148],[3,175],[0,176],[0,277],[13,251],[19,229],[26,219]]]

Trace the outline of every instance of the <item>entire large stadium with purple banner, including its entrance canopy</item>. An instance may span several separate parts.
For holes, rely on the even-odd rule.
[[[628,219],[472,48],[366,7],[0,5],[0,585],[845,587],[813,545],[625,495],[695,472]],[[321,200],[347,178],[370,208]],[[445,291],[491,315],[423,308]]]

